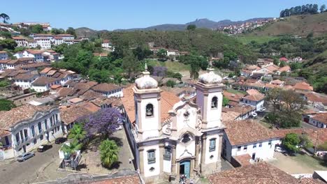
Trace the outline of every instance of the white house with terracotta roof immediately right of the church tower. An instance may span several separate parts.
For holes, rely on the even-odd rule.
[[[274,157],[279,137],[256,121],[224,121],[226,129],[223,138],[222,155],[234,166],[235,160],[244,155],[248,162],[269,160]]]

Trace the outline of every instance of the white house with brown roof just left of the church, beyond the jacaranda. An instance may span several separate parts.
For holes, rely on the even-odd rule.
[[[115,84],[108,84],[108,83],[101,83],[97,84],[96,86],[93,86],[91,88],[94,92],[96,93],[101,93],[102,95],[106,97],[122,97],[123,92],[122,92],[122,87],[117,86]]]

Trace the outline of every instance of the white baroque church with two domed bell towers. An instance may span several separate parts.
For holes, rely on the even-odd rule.
[[[223,88],[211,66],[198,77],[196,96],[162,91],[145,71],[124,89],[122,103],[134,164],[143,180],[178,181],[221,169]]]

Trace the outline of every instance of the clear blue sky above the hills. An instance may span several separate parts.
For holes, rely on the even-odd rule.
[[[4,0],[1,0],[4,1]],[[53,27],[87,26],[91,29],[129,29],[157,24],[184,24],[199,18],[247,20],[278,17],[280,10],[307,3],[327,5],[327,0],[118,0],[118,1],[6,1],[1,13],[10,22],[50,22]]]

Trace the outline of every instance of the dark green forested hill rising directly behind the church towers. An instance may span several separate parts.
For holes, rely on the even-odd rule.
[[[102,39],[112,40],[119,47],[138,47],[153,43],[154,47],[194,52],[203,56],[218,56],[222,52],[234,52],[244,62],[256,61],[251,50],[236,38],[209,29],[193,31],[111,31],[103,32]]]

